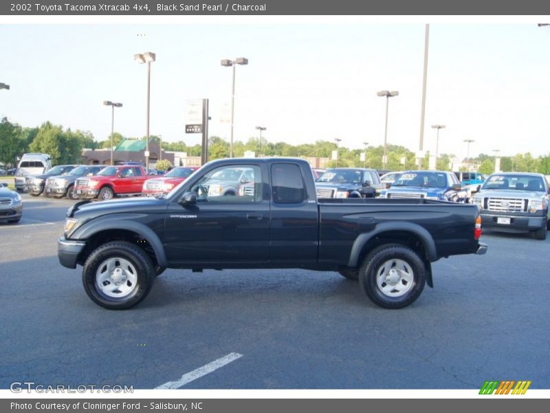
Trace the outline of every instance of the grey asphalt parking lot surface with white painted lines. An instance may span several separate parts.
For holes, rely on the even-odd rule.
[[[436,262],[435,288],[402,310],[337,273],[168,270],[109,311],[58,264],[72,201],[23,200],[21,222],[0,224],[0,388],[550,388],[550,238],[484,233],[487,255]]]

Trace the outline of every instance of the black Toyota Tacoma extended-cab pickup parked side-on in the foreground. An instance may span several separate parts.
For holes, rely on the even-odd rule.
[[[252,171],[223,194],[217,177],[235,167]],[[166,268],[338,271],[378,306],[401,308],[433,286],[431,262],[485,253],[480,235],[473,204],[317,200],[305,160],[234,158],[209,162],[159,198],[76,203],[58,258],[82,265],[86,293],[111,309],[138,304]]]

